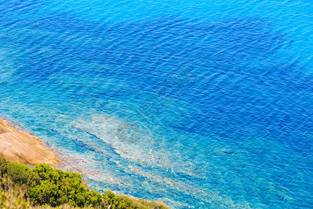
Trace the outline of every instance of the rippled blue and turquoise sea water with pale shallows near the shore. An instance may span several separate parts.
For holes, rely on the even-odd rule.
[[[313,4],[0,0],[0,116],[90,187],[312,208]]]

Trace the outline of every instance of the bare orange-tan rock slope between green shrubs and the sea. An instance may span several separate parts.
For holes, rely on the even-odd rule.
[[[46,148],[40,139],[15,129],[0,118],[0,155],[9,162],[46,163],[56,166],[56,153]]]

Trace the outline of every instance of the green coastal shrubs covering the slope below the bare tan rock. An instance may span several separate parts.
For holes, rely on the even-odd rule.
[[[165,209],[156,201],[89,189],[80,173],[37,164],[33,169],[0,157],[0,208]]]

